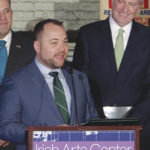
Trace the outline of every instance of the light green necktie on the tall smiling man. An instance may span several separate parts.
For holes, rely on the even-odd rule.
[[[122,61],[122,57],[124,54],[124,41],[123,41],[123,29],[119,30],[119,34],[117,36],[116,39],[116,44],[115,44],[115,57],[116,57],[116,65],[117,65],[117,70],[119,70],[121,61]]]

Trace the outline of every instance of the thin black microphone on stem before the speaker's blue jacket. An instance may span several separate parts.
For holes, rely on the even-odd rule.
[[[75,124],[76,124],[76,126],[79,126],[77,100],[76,100],[76,90],[75,90],[74,78],[73,78],[73,69],[71,67],[67,67],[67,70],[71,75],[71,81],[72,81],[73,97],[74,97],[74,104],[75,104],[75,115],[76,115]]]

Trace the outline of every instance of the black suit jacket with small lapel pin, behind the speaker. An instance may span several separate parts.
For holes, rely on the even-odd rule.
[[[15,72],[29,64],[35,56],[33,48],[33,33],[12,31],[12,41],[6,67],[6,75]]]

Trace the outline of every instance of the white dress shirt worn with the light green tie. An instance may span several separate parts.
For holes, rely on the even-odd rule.
[[[132,28],[132,22],[128,23],[124,27],[120,27],[112,18],[112,16],[109,17],[109,23],[110,23],[110,28],[111,28],[111,35],[112,35],[112,41],[113,41],[113,46],[115,47],[116,39],[119,33],[119,29],[122,28],[124,30],[123,32],[123,40],[124,40],[124,50],[126,49],[128,39],[130,36],[130,31]]]

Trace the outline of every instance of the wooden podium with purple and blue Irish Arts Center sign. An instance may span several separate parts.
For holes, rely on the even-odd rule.
[[[140,150],[140,125],[27,127],[28,150]]]

